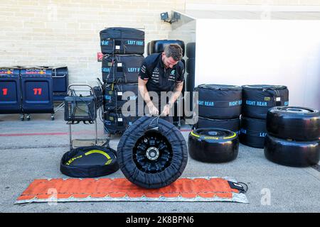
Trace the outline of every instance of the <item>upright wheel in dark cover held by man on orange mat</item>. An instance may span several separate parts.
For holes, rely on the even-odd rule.
[[[143,116],[122,135],[117,157],[120,170],[130,182],[156,189],[181,176],[188,150],[176,126],[161,118]]]

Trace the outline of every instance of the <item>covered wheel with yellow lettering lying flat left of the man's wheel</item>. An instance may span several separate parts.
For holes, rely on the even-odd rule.
[[[69,177],[101,177],[117,170],[116,151],[97,145],[70,150],[60,162],[60,171]]]

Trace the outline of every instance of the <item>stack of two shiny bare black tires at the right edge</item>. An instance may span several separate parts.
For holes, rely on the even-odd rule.
[[[306,167],[320,160],[320,113],[277,106],[267,112],[265,157],[280,165]]]

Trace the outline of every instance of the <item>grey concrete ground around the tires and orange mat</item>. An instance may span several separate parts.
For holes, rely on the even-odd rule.
[[[100,138],[105,135],[99,123]],[[74,138],[93,138],[94,126],[73,126]],[[188,128],[188,126],[183,126]],[[188,131],[183,132],[188,138]],[[110,146],[117,149],[119,136]],[[233,162],[206,164],[189,158],[181,177],[233,177],[248,186],[249,204],[230,202],[68,202],[14,205],[16,198],[37,178],[67,178],[59,170],[60,158],[68,151],[68,126],[63,111],[33,114],[31,121],[16,115],[0,115],[0,212],[319,212],[320,172],[311,167],[295,168],[265,159],[262,149],[240,144]],[[124,177],[119,170],[107,177]],[[270,192],[270,204],[265,198]]]

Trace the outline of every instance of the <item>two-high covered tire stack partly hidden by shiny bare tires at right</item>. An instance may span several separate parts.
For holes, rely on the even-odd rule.
[[[267,135],[267,111],[288,106],[289,90],[281,85],[243,85],[240,143],[263,148]]]

